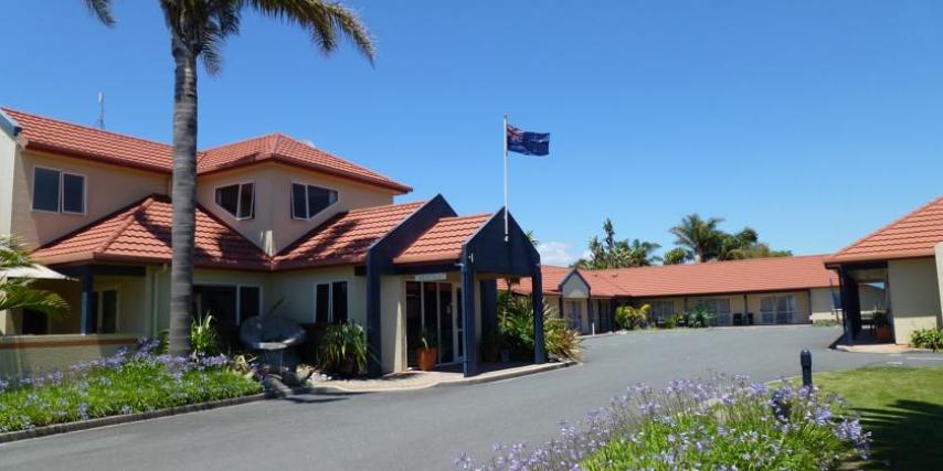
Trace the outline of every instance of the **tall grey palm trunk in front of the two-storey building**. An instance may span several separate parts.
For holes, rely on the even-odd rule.
[[[193,246],[197,228],[197,54],[176,35],[171,42],[176,69],[169,353],[186,355],[190,353]]]

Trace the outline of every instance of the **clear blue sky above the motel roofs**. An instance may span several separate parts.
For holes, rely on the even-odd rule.
[[[3,6],[0,104],[170,140],[172,63],[157,1]],[[943,2],[350,0],[371,68],[247,14],[200,82],[200,146],[271,131],[462,213],[501,205],[501,115],[552,132],[512,156],[511,212],[579,256],[618,236],[670,247],[685,214],[750,225],[775,248],[833,251],[943,194]]]

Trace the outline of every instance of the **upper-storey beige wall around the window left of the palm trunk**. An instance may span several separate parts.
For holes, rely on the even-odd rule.
[[[85,175],[85,215],[32,211],[33,169]],[[167,194],[169,175],[87,160],[22,151],[13,171],[11,229],[30,247],[45,244],[152,193]]]

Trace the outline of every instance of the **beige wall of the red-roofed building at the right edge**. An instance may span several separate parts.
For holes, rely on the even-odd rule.
[[[936,261],[932,257],[888,261],[894,342],[908,343],[912,331],[940,327],[936,270]]]

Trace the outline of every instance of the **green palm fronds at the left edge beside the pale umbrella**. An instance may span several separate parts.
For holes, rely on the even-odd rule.
[[[56,293],[33,288],[31,278],[9,278],[17,268],[31,268],[35,263],[22,244],[12,236],[0,236],[0,311],[30,309],[57,317],[68,312],[68,304]]]

